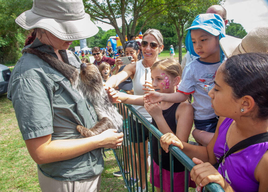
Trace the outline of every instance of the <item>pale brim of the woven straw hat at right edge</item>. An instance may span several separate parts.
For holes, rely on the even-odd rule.
[[[219,40],[221,49],[227,58],[233,55],[241,54],[241,51],[239,50],[239,45],[241,44],[241,42],[242,39],[235,38],[229,35]]]

